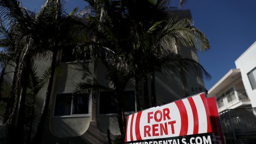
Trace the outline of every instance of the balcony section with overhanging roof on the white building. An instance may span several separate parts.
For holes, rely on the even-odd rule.
[[[225,76],[211,87],[208,96],[217,98],[219,113],[227,109],[251,106],[240,69],[230,69]]]

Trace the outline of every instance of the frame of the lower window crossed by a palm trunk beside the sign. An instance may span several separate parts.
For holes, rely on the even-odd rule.
[[[136,91],[135,90],[125,90],[125,91],[134,91],[134,107],[135,107],[135,111],[124,111],[124,114],[125,115],[131,115],[133,113],[136,113],[137,112],[137,99],[136,99]],[[98,116],[116,116],[118,115],[117,113],[109,113],[109,114],[100,114],[100,93],[101,92],[111,92],[111,91],[99,91],[99,94],[98,94],[98,102],[97,102],[97,115]]]

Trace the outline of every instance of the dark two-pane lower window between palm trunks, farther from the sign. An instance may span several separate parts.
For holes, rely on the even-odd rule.
[[[90,94],[62,93],[56,95],[54,116],[89,114]]]

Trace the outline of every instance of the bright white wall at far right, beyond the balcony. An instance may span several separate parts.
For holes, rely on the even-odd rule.
[[[252,90],[247,73],[256,67],[256,42],[247,49],[236,61],[236,68],[241,70],[245,90],[251,100],[252,107],[256,107],[256,90]]]

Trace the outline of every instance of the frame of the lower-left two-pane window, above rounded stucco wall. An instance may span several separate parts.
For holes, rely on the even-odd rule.
[[[54,105],[53,105],[53,111],[52,111],[52,117],[53,118],[65,118],[65,117],[90,117],[92,116],[92,97],[90,93],[81,93],[81,94],[89,94],[89,105],[88,105],[88,114],[72,114],[73,113],[73,99],[74,99],[74,95],[72,95],[72,99],[71,99],[71,109],[70,109],[70,115],[67,116],[55,116],[55,105],[56,105],[56,99],[57,99],[57,95],[58,94],[73,94],[72,92],[59,92],[59,93],[55,93],[55,97],[54,97]]]

